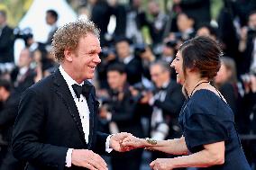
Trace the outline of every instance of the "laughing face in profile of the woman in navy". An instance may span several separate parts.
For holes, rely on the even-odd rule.
[[[177,83],[183,85],[185,82],[185,74],[183,72],[183,58],[180,51],[177,52],[176,58],[170,64],[170,67],[174,67],[177,75]]]

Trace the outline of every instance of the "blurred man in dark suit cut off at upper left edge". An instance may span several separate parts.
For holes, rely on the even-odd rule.
[[[6,23],[5,11],[0,11],[0,63],[14,62],[14,33]]]

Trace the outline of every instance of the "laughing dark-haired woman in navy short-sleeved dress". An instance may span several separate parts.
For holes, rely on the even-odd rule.
[[[233,112],[222,94],[209,83],[220,68],[221,55],[215,41],[209,38],[197,37],[184,42],[171,63],[177,81],[187,95],[179,115],[183,136],[160,141],[132,137],[123,139],[123,147],[185,155],[156,159],[150,165],[154,170],[191,166],[218,170],[251,169],[234,128]]]

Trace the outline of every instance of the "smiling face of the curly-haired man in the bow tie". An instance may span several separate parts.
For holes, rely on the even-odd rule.
[[[75,51],[68,50],[65,55],[72,78],[78,83],[85,79],[92,79],[97,64],[101,62],[98,56],[100,52],[100,42],[96,35],[87,33],[86,37],[80,38],[78,48]]]

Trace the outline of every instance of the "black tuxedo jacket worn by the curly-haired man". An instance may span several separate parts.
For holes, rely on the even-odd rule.
[[[26,160],[27,169],[66,169],[68,148],[105,151],[106,134],[96,131],[98,102],[93,88],[87,99],[90,111],[88,144],[78,108],[59,69],[28,88],[14,123],[14,157]],[[70,169],[83,169],[72,166]],[[84,168],[85,169],[85,168]]]

